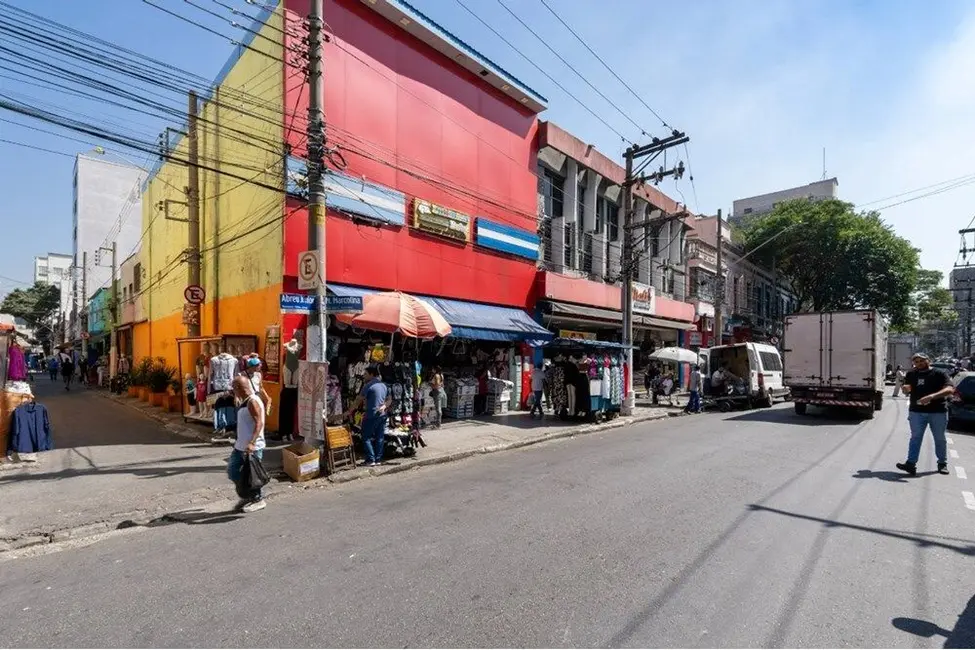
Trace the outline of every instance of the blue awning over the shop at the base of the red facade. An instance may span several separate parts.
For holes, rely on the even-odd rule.
[[[454,330],[451,336],[479,341],[524,341],[533,346],[553,336],[522,309],[433,296],[420,298],[440,310]]]

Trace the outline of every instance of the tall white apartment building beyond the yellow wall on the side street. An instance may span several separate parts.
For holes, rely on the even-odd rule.
[[[116,242],[118,261],[129,256],[142,236],[142,184],[146,170],[97,150],[79,154],[74,168],[74,304],[72,335],[80,336],[77,315],[91,296],[111,281],[111,253]],[[88,254],[87,295],[82,295],[81,266]]]

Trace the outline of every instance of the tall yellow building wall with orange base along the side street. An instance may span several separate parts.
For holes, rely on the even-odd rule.
[[[201,102],[198,119],[200,284],[203,336],[250,334],[263,355],[268,325],[280,324],[284,215],[284,47],[282,10],[274,11],[248,48]],[[257,51],[255,51],[257,50]],[[201,89],[201,94],[202,94]],[[185,130],[186,126],[181,125]],[[172,153],[188,158],[188,139]],[[188,168],[165,162],[147,183],[142,205],[143,314],[134,328],[133,357],[179,362],[176,339],[183,290],[189,283],[186,194]],[[168,215],[166,218],[166,208]],[[184,373],[200,347],[184,345]],[[276,401],[278,389],[268,383]],[[276,426],[276,413],[269,423]]]

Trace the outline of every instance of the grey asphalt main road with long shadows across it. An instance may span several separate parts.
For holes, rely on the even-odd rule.
[[[972,647],[973,488],[930,440],[894,470],[905,418],[671,419],[12,560],[0,644]]]

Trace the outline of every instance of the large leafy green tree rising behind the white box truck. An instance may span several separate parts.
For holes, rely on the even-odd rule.
[[[774,260],[800,310],[874,308],[895,326],[911,321],[918,251],[876,212],[836,199],[781,203],[745,230],[743,245]]]

